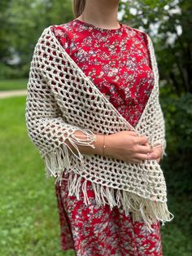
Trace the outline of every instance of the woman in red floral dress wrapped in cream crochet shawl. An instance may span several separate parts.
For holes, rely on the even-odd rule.
[[[161,197],[166,188],[159,161],[166,141],[158,93],[151,95],[155,60],[147,35],[118,22],[118,4],[74,0],[75,19],[43,33],[28,82],[28,134],[57,178],[63,251],[162,255],[159,221],[171,218]],[[103,108],[94,104],[97,97]],[[156,105],[145,126],[147,109]],[[81,165],[88,161],[96,172]]]

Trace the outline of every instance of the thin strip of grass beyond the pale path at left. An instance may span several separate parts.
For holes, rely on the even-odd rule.
[[[0,91],[1,90],[23,90],[23,89],[27,89],[27,83],[28,83],[27,78],[0,80]]]

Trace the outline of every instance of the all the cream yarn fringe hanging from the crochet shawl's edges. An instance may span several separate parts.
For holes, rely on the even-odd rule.
[[[81,173],[85,170],[83,155],[77,148],[77,144],[86,145],[94,148],[92,144],[95,140],[94,133],[91,134],[90,131],[85,132],[87,136],[87,142],[85,143],[79,138],[76,138],[75,135],[71,135],[68,138],[68,141],[72,144],[78,156],[72,151],[71,148],[67,147],[57,148],[55,152],[50,152],[46,155],[41,155],[42,159],[46,165],[46,176],[47,178],[55,176],[55,183],[62,183],[62,179],[68,180],[68,195],[76,196],[77,200],[80,199],[80,191],[84,195],[85,205],[89,205],[89,197],[87,195],[87,180],[84,179],[83,182],[81,179]],[[78,160],[77,160],[78,159]],[[76,166],[71,166],[71,161],[76,162]],[[77,160],[77,161],[76,161]],[[63,178],[62,175],[67,178]],[[123,207],[125,215],[128,216],[129,213],[132,213],[133,222],[135,221],[144,221],[146,227],[150,232],[153,231],[152,224],[156,221],[160,221],[162,225],[165,222],[171,221],[174,218],[174,215],[169,212],[166,202],[151,201],[148,198],[137,196],[136,194],[128,191],[122,191],[114,188],[103,187],[98,183],[91,182],[92,188],[94,190],[95,201],[97,205],[109,205],[111,210],[114,206],[118,208]],[[116,195],[115,195],[116,194]]]

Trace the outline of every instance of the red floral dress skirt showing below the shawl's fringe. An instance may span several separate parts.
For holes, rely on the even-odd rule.
[[[89,181],[89,205],[85,205],[82,191],[79,200],[68,195],[68,177],[63,174],[63,178],[62,186],[56,183],[55,187],[63,251],[74,249],[77,256],[162,255],[159,223],[149,232],[145,223],[133,223],[131,214],[125,216],[124,210],[96,205]]]

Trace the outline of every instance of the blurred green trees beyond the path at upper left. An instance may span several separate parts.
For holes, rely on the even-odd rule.
[[[1,1],[0,61],[5,73],[1,72],[0,78],[27,77],[43,29],[72,18],[71,0]]]

